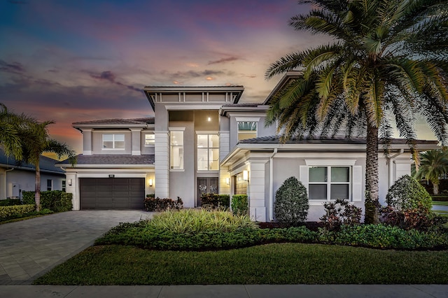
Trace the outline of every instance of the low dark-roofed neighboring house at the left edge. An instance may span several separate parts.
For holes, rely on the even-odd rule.
[[[41,191],[64,190],[65,171],[55,166],[58,161],[41,155]],[[22,191],[33,191],[36,167],[7,157],[0,149],[0,199],[20,198]]]

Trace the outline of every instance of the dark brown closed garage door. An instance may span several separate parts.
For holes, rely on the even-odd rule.
[[[145,178],[80,178],[80,208],[143,209]]]

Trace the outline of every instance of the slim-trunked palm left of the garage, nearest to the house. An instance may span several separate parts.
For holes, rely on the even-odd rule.
[[[68,157],[71,164],[76,163],[76,152],[72,148],[65,143],[50,139],[48,125],[53,123],[52,121],[34,122],[19,131],[22,141],[22,160],[33,164],[36,168],[36,181],[34,186],[36,211],[39,211],[41,206],[41,168],[39,165],[41,155],[44,152],[52,152],[56,153],[58,158],[62,156]]]

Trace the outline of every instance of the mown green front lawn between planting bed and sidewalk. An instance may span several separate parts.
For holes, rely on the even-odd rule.
[[[34,284],[446,284],[447,268],[447,251],[303,243],[206,252],[93,246]]]

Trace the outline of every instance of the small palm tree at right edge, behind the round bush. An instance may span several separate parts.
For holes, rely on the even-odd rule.
[[[416,179],[426,179],[433,184],[433,193],[439,194],[439,178],[448,172],[448,151],[429,150],[420,154],[420,167]]]

